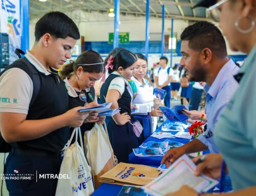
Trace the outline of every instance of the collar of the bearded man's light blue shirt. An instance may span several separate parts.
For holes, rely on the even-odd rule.
[[[234,75],[237,74],[239,71],[239,68],[237,67],[236,64],[234,64],[233,60],[230,59],[227,61],[224,66],[221,68],[219,71],[217,77],[215,78],[214,82],[212,85],[209,87],[209,90],[207,92],[207,96],[210,95],[212,98],[216,99],[218,92],[221,89],[221,86],[223,83],[228,80],[228,74]]]

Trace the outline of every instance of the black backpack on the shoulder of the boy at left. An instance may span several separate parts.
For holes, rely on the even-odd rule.
[[[32,98],[29,103],[29,107],[34,103],[35,99],[40,90],[40,78],[38,75],[38,71],[36,68],[28,61],[27,58],[23,57],[20,54],[25,54],[22,50],[16,49],[15,54],[19,57],[19,59],[15,60],[12,64],[10,64],[4,71],[0,73],[0,77],[5,73],[7,70],[12,68],[19,68],[25,71],[33,82],[33,93]],[[11,145],[7,143],[0,133],[0,153],[9,153],[11,151]]]

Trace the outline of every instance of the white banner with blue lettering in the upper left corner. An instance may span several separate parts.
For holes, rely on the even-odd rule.
[[[17,59],[14,53],[16,48],[21,48],[20,38],[20,1],[1,0],[0,7],[0,32],[9,34],[10,63]]]

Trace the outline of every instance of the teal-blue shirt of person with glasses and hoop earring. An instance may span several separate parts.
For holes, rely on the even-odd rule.
[[[239,73],[244,73],[239,88],[220,115],[214,135],[234,190],[256,186],[256,46]]]

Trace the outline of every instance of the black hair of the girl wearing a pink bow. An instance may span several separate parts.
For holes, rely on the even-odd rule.
[[[122,67],[123,69],[129,68],[136,61],[137,57],[132,52],[122,49],[114,55],[114,60],[112,63],[113,70],[109,69],[108,71],[111,74],[112,72],[117,71],[119,67]]]

